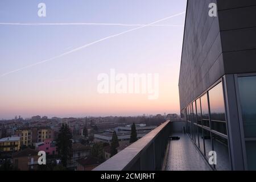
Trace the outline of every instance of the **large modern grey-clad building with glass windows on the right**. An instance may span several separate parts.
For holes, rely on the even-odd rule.
[[[217,16],[209,16],[216,3]],[[256,1],[188,0],[179,76],[181,117],[217,170],[256,169]]]

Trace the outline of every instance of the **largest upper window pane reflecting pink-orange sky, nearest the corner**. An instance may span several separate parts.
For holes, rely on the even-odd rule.
[[[226,133],[225,104],[222,83],[209,90],[211,129]]]

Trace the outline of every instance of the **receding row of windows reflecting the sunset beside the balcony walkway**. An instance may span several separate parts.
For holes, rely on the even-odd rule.
[[[206,159],[216,151],[217,170],[230,170],[225,102],[222,82],[187,106],[187,133]]]

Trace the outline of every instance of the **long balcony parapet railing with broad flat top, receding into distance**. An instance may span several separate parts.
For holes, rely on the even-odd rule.
[[[171,122],[164,122],[137,140],[124,150],[114,155],[94,171],[130,171],[130,170],[160,170],[166,152],[168,137],[171,133]]]

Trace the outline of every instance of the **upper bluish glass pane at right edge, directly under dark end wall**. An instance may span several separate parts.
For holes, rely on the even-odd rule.
[[[238,87],[245,137],[256,137],[256,76],[239,77]]]

